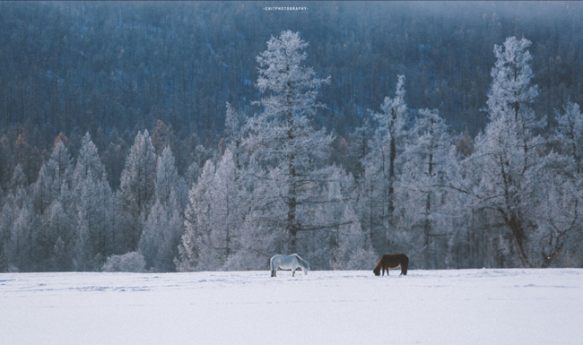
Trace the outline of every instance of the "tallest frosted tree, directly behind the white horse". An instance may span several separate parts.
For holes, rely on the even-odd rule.
[[[290,252],[297,249],[298,233],[314,228],[305,217],[309,211],[300,209],[313,207],[313,181],[322,179],[316,164],[333,140],[324,129],[316,131],[310,124],[316,109],[323,107],[316,102],[318,89],[329,78],[318,79],[312,68],[303,66],[306,47],[299,33],[288,30],[272,37],[257,56],[256,86],[263,98],[256,104],[263,110],[249,118],[250,134],[245,140],[252,159],[265,168],[261,178],[280,185],[285,211],[283,218],[277,213],[272,219],[272,227],[285,230]]]

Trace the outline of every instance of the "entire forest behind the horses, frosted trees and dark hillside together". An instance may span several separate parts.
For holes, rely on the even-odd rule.
[[[0,270],[580,267],[582,14],[2,2]]]

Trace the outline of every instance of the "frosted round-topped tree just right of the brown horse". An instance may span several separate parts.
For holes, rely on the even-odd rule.
[[[422,254],[424,266],[433,267],[444,262],[447,236],[451,227],[445,210],[450,169],[456,165],[456,151],[448,134],[448,127],[437,109],[422,109],[409,131],[408,142],[400,163],[399,206],[405,214],[401,222],[409,234],[409,251]]]

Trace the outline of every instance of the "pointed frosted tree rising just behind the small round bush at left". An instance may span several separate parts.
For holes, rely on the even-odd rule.
[[[148,131],[138,132],[126,160],[119,185],[117,223],[122,230],[124,252],[135,251],[144,221],[154,201],[156,154]]]

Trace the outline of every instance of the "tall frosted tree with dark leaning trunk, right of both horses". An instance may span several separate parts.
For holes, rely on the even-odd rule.
[[[531,86],[534,74],[528,65],[532,59],[528,46],[529,40],[514,37],[506,39],[503,46],[494,46],[497,61],[487,101],[490,123],[476,138],[474,154],[466,160],[475,164],[468,168],[477,178],[475,206],[490,214],[491,226],[501,224],[508,229],[512,248],[523,266],[530,265],[526,241],[535,227],[533,193],[541,164],[535,149],[543,141],[533,132],[544,124],[530,108],[538,90]]]

